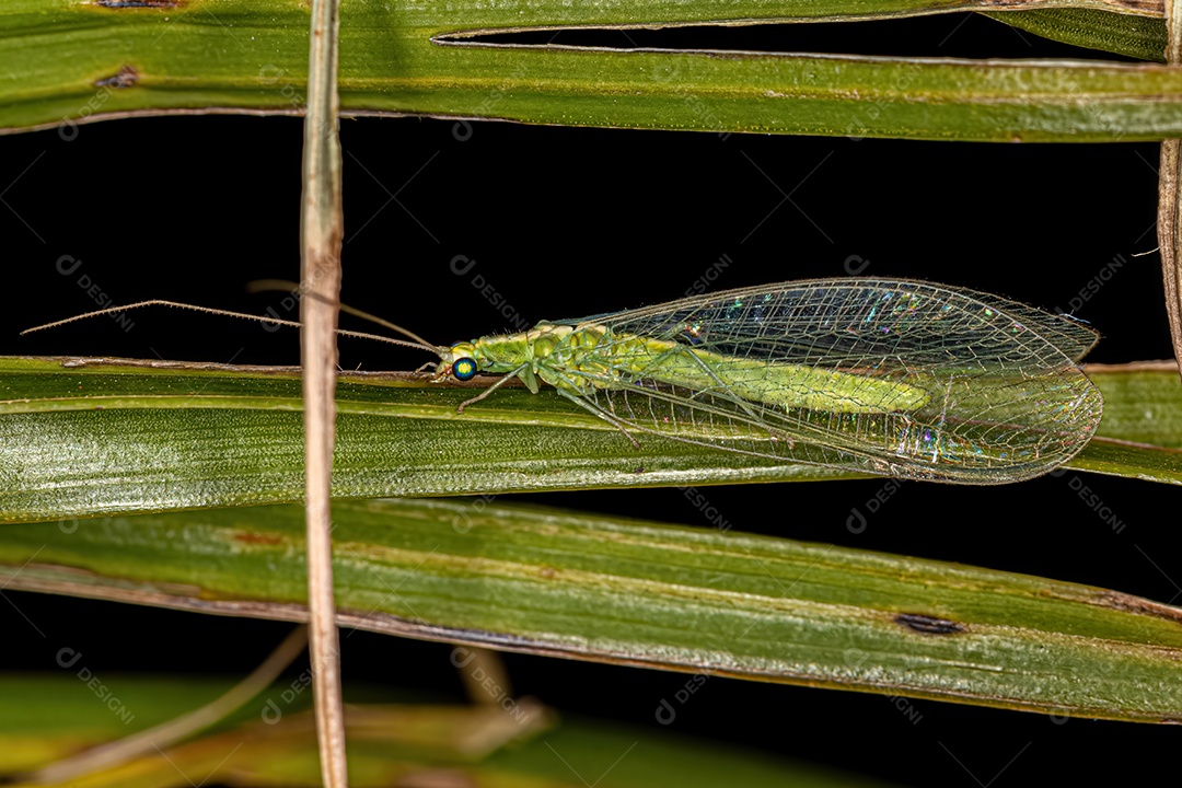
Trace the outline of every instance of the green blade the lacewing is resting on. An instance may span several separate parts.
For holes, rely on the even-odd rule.
[[[1104,421],[1071,467],[1182,483],[1176,370],[1093,367],[1092,377],[1104,393]],[[635,449],[550,390],[506,388],[457,416],[472,392],[405,377],[344,378],[333,494],[851,476],[655,436]],[[292,371],[0,359],[0,522],[303,500],[299,411]]]

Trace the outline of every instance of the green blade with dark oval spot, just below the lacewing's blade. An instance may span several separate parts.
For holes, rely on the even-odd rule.
[[[485,501],[343,502],[333,519],[344,626],[764,682],[1182,722],[1182,611],[1117,592]],[[301,564],[292,560],[303,533],[298,506],[77,528],[13,525],[0,529],[0,582],[294,620],[306,614]]]

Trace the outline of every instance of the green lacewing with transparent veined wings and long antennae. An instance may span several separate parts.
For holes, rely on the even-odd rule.
[[[260,282],[255,289],[290,282]],[[258,315],[142,301],[269,324]],[[962,484],[1045,474],[1091,439],[1104,400],[1079,369],[1097,334],[995,295],[895,279],[747,287],[433,345],[431,378],[546,383],[622,430],[784,462]],[[27,333],[27,332],[24,332]],[[430,366],[430,365],[427,365]]]

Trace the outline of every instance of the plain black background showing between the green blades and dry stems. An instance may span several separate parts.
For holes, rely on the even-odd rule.
[[[929,57],[1099,57],[980,17],[758,31],[635,32],[650,46],[712,45]],[[550,38],[547,34],[546,38]],[[622,33],[558,43],[626,46]],[[470,133],[469,133],[470,131]],[[1104,333],[1092,360],[1170,353],[1154,232],[1157,145],[1019,145],[561,129],[507,123],[346,119],[343,298],[437,343],[512,325],[670,300],[716,261],[712,288],[811,276],[910,276],[1073,310]],[[260,313],[278,295],[245,282],[297,278],[301,124],[293,118],[144,118],[0,138],[0,207],[9,272],[0,352],[284,363],[294,332],[152,310],[122,331],[104,318],[19,338],[30,325],[96,307],[83,274],[113,302],[168,298]],[[391,198],[391,195],[394,198]],[[785,195],[790,198],[785,200]],[[63,255],[82,261],[58,273]],[[475,260],[465,275],[457,255]],[[1121,255],[1122,266],[1086,300]],[[1106,276],[1106,274],[1105,274]],[[362,327],[364,326],[353,326]],[[428,360],[344,340],[345,367]],[[474,435],[472,439],[480,439]],[[1073,489],[1086,484],[1124,525]],[[959,561],[1173,601],[1178,538],[1164,486],[1044,477],[1006,488],[908,483],[852,534],[852,506],[882,480],[720,487],[734,528]],[[708,527],[675,489],[520,496],[597,513]],[[112,604],[7,595],[50,634],[0,605],[0,667],[58,670],[69,634],[97,673],[248,671],[286,625]],[[353,633],[346,680],[428,686],[462,698],[449,647]],[[560,710],[656,728],[687,676],[506,656],[519,693]],[[1174,766],[1162,727],[910,702],[712,679],[675,731],[855,769],[916,786],[1130,782]]]

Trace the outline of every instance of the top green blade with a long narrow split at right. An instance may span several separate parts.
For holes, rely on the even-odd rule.
[[[180,6],[180,7],[178,7]],[[512,5],[465,0],[342,7],[345,112],[726,132],[973,141],[1182,136],[1182,70],[1096,61],[463,44],[476,31],[866,19],[980,7],[917,0],[707,0]],[[1080,2],[1141,14],[1154,6]],[[48,8],[48,11],[47,11]],[[216,11],[214,11],[216,8]],[[11,0],[0,9],[0,128],[217,108],[304,104],[306,9],[279,0],[167,8]],[[216,57],[210,57],[216,52]]]

